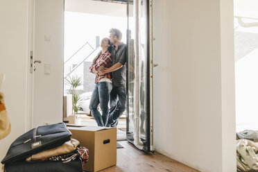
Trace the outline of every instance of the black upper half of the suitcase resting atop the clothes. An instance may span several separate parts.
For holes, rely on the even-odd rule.
[[[65,123],[39,126],[18,137],[8,149],[2,164],[25,161],[26,157],[60,146],[71,139],[71,132]]]

